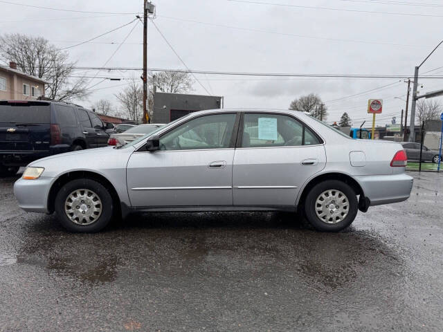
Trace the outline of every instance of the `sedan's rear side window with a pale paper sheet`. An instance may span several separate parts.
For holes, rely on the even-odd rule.
[[[319,144],[318,138],[302,123],[279,114],[246,113],[242,147],[284,147]]]

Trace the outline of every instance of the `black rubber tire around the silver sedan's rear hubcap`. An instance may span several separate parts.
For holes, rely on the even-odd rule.
[[[320,219],[316,214],[316,201],[320,194],[327,190],[338,190],[345,194],[349,207],[347,208],[347,214],[345,218],[337,223],[327,223]],[[316,229],[322,232],[338,232],[349,226],[352,221],[354,221],[355,216],[358,212],[358,201],[357,196],[349,185],[343,181],[338,180],[327,180],[322,183],[315,185],[307,194],[305,200],[305,216],[307,221]]]

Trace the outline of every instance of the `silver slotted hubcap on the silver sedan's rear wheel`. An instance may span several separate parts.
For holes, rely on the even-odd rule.
[[[324,223],[339,223],[349,212],[349,201],[340,190],[326,190],[317,197],[315,209]]]

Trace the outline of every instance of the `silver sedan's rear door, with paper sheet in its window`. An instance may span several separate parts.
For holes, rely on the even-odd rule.
[[[234,205],[294,205],[325,167],[323,141],[287,114],[244,113],[233,166]]]

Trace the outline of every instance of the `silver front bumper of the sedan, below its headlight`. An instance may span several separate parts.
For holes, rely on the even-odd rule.
[[[40,177],[37,180],[19,178],[14,184],[15,198],[26,212],[49,213],[48,196],[54,178]]]

